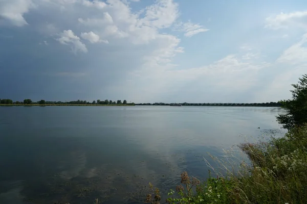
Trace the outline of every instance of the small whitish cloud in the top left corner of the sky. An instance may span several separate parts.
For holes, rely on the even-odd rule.
[[[24,14],[34,7],[31,0],[1,0],[0,16],[8,19],[13,25],[22,27],[28,24]]]

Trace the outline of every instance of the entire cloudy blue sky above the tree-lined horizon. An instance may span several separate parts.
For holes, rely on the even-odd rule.
[[[306,42],[305,0],[0,0],[0,98],[278,101]]]

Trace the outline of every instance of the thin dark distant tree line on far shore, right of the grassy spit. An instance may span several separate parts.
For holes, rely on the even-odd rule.
[[[170,106],[175,105],[174,103],[145,103],[145,104],[136,104],[137,106]],[[182,103],[182,106],[252,106],[252,107],[280,107],[282,104],[278,102],[270,103]]]

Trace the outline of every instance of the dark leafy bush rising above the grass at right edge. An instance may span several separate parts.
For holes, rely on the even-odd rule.
[[[279,114],[276,118],[285,129],[307,123],[307,74],[299,78],[298,84],[292,84],[292,99],[280,100],[281,107],[287,110],[286,114]]]

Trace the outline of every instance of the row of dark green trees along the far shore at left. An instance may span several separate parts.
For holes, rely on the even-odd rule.
[[[39,104],[39,105],[61,105],[61,104],[71,104],[71,105],[131,105],[134,106],[135,103],[127,103],[127,100],[100,100],[97,99],[93,100],[92,102],[86,100],[72,100],[72,101],[46,101],[46,100],[39,100],[39,101],[32,101],[31,99],[24,99],[24,101],[13,101],[11,99],[0,99],[0,104],[24,104],[24,105],[31,105],[31,104]]]

